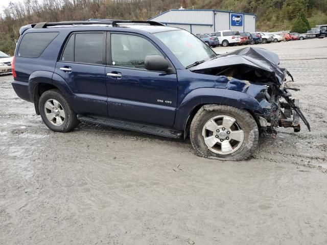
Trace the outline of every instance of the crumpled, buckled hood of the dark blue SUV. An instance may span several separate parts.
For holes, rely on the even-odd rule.
[[[245,47],[240,50],[218,55],[213,60],[208,60],[191,68],[191,71],[204,71],[215,67],[228,67],[246,65],[260,70],[268,71],[272,78],[282,84],[286,76],[286,69],[279,67],[279,58],[275,53],[264,48]]]

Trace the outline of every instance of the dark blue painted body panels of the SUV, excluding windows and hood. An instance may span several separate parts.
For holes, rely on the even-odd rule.
[[[258,97],[264,86],[185,69],[167,46],[152,34],[158,30],[178,29],[153,26],[29,29],[25,33],[58,31],[60,34],[37,59],[15,56],[17,78],[12,86],[21,99],[32,102],[33,93],[39,84],[52,84],[63,93],[69,105],[78,114],[121,118],[168,126],[179,131],[184,130],[186,120],[194,108],[203,104],[224,104],[253,113],[267,113],[268,109],[264,108],[267,106],[265,100]],[[112,31],[141,35],[151,40],[162,54],[167,56],[176,72],[167,74],[106,64],[58,61],[67,36],[78,31]],[[70,67],[72,72],[64,72],[60,67]],[[107,73],[120,73],[122,78],[108,77]]]

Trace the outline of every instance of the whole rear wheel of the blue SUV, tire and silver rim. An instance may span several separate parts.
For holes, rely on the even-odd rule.
[[[57,89],[41,94],[39,111],[44,124],[55,132],[69,132],[79,123],[75,112]]]

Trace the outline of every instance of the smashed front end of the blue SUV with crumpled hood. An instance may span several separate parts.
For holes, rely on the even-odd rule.
[[[200,74],[219,76],[226,81],[225,89],[246,93],[256,101],[255,119],[262,128],[274,131],[275,127],[292,127],[300,131],[299,118],[310,131],[306,117],[292,99],[289,87],[293,82],[290,72],[278,66],[276,54],[262,48],[247,47],[199,64],[191,70]]]

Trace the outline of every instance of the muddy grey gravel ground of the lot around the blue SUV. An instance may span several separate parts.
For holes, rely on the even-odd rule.
[[[54,133],[0,76],[0,244],[327,244],[327,38],[255,46],[294,76],[312,132],[277,129],[244,162],[103,126]]]

